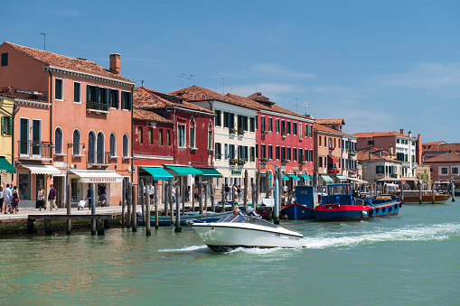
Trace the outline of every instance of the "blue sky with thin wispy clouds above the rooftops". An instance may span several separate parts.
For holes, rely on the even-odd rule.
[[[47,51],[104,67],[117,52],[138,86],[260,91],[301,114],[343,118],[346,133],[404,128],[424,143],[460,143],[458,1],[0,4],[0,41],[42,49],[46,32]]]

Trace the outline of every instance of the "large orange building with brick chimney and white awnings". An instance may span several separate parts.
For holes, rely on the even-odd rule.
[[[14,115],[15,183],[23,206],[51,184],[65,206],[87,197],[89,185],[118,205],[121,182],[132,181],[132,96],[135,82],[120,75],[120,55],[110,67],[11,42],[0,45],[0,88],[26,93]],[[38,101],[34,101],[37,100]],[[40,100],[42,99],[42,100]],[[48,193],[48,192],[47,192]],[[95,190],[93,190],[95,194]]]

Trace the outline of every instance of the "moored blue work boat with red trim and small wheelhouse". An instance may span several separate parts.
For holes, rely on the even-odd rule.
[[[352,184],[330,184],[322,204],[314,209],[320,221],[360,220],[399,213],[400,201],[396,196],[383,194],[371,199],[358,199]]]

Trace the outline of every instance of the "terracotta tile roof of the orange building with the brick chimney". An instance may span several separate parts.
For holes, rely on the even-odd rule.
[[[12,42],[5,42],[5,44],[10,45],[15,50],[23,52],[23,54],[26,54],[35,60],[42,61],[42,63],[44,63],[47,66],[57,67],[57,68],[65,69],[65,70],[75,70],[75,71],[95,74],[95,75],[98,75],[99,77],[119,79],[122,81],[135,83],[134,81],[130,79],[123,78],[120,75],[110,72],[108,69],[105,69],[104,67],[99,66],[94,61],[74,59],[68,56],[55,54],[49,51],[42,51],[42,50],[30,48],[30,47],[24,47],[24,46],[21,46],[19,44],[15,44]]]

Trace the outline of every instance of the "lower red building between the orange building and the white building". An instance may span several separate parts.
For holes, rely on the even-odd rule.
[[[195,168],[213,166],[214,112],[145,87],[134,89],[134,107],[134,164],[139,179],[158,181],[146,168],[165,166],[174,176],[186,175],[183,183],[192,187],[189,175],[196,173]],[[167,166],[185,166],[180,168],[183,175]]]

